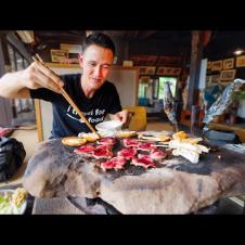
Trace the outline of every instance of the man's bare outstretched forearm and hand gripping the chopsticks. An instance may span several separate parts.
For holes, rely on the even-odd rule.
[[[26,69],[8,73],[0,78],[0,96],[28,99],[30,98],[29,89],[39,88],[47,88],[61,93],[57,83],[63,86],[59,76],[34,62]]]

